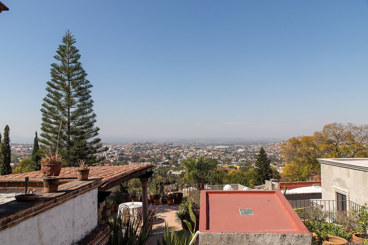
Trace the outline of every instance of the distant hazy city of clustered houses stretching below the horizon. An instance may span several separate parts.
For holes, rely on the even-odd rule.
[[[197,139],[198,140],[198,139]],[[242,143],[233,143],[238,141]],[[180,163],[189,157],[206,156],[217,159],[219,168],[242,169],[251,167],[261,145],[265,148],[271,166],[282,173],[285,164],[280,159],[280,145],[276,139],[201,139],[190,142],[188,139],[176,143],[134,142],[126,144],[107,144],[109,148],[99,156],[106,157],[102,164],[124,165],[134,163],[154,163],[156,167],[178,170]],[[179,143],[180,142],[180,143]],[[13,168],[21,159],[31,155],[32,144],[11,144]]]

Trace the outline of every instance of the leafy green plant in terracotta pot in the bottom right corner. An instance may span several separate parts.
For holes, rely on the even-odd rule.
[[[368,207],[367,203],[357,208],[353,207],[350,211],[350,215],[356,220],[355,233],[353,234],[353,241],[355,243],[361,243],[363,239],[368,239],[367,227],[368,227]]]

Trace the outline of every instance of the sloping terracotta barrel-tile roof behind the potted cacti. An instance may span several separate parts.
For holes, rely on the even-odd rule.
[[[115,181],[119,178],[126,177],[131,174],[135,174],[141,170],[145,170],[147,168],[154,167],[155,164],[130,164],[130,165],[121,165],[121,166],[95,166],[89,167],[89,176],[88,178],[102,178],[102,184],[100,186],[104,186],[109,184],[112,181]],[[61,172],[59,177],[61,178],[77,178],[77,167],[64,167],[61,168]],[[0,178],[42,178],[41,171],[33,171],[29,173],[22,174],[8,174],[1,175]]]

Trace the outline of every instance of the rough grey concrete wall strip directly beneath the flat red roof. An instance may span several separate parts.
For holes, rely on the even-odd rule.
[[[200,232],[199,245],[311,245],[311,234]]]

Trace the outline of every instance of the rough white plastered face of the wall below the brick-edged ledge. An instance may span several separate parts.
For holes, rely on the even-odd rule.
[[[0,231],[0,244],[70,245],[97,226],[97,189]]]

